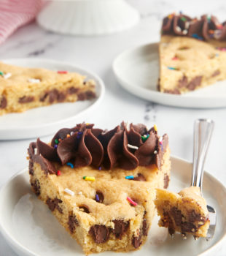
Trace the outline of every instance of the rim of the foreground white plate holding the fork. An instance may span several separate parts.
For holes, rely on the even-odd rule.
[[[184,162],[185,164],[192,164],[192,162],[183,159],[181,157],[176,157],[176,156],[171,156],[171,160],[174,161],[179,161],[179,162]],[[28,173],[28,167],[23,168],[22,170],[19,170],[17,173],[15,173],[13,176],[11,176],[1,187],[0,187],[0,194],[1,192],[9,185],[9,183],[18,175],[26,175],[26,173]],[[217,182],[218,184],[220,184],[224,190],[225,190],[225,194],[226,194],[226,187],[224,184],[222,184],[221,181],[219,181],[217,178],[215,178],[213,175],[211,175],[211,173],[209,173],[208,171],[204,171],[203,176],[207,176],[210,179],[213,179],[214,182]],[[23,250],[23,253],[25,255],[29,255],[28,256],[40,256],[37,255],[36,252],[32,252],[30,249],[28,249],[26,246],[24,246],[23,244],[21,244],[19,241],[17,241],[17,239],[10,235],[10,233],[8,232],[8,230],[2,225],[1,221],[0,221],[0,233],[1,235],[4,237],[4,239],[7,241],[7,243],[9,244],[10,248],[15,252],[15,247],[18,250]],[[226,238],[226,232],[225,234],[222,236],[222,238],[219,239],[219,241],[217,241],[215,244],[213,244],[209,249],[206,249],[206,251],[201,252],[199,255],[200,256],[205,256],[206,254],[208,254],[209,252],[212,252],[214,249],[217,249],[217,246],[219,246],[220,244],[222,244],[222,242],[225,240]]]

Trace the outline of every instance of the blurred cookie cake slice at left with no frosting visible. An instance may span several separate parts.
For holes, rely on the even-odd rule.
[[[94,97],[95,82],[85,80],[77,73],[17,67],[0,62],[0,116]]]

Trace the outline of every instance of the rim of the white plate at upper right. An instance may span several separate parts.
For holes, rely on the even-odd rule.
[[[201,99],[201,100],[205,100],[205,101],[208,101],[208,100],[216,100],[216,99],[221,99],[221,100],[224,100],[226,101],[226,97],[223,97],[223,96],[219,96],[219,97],[211,97],[211,96],[206,96],[206,97],[200,97],[200,96],[189,96],[187,97],[187,95],[189,94],[180,94],[180,95],[177,95],[177,94],[163,94],[161,93],[160,91],[154,91],[152,89],[147,89],[147,88],[144,88],[144,87],[141,87],[141,86],[138,86],[136,85],[136,83],[128,83],[124,78],[122,78],[120,76],[120,74],[117,72],[117,62],[120,61],[120,59],[122,58],[122,56],[126,56],[130,53],[132,53],[133,51],[135,50],[141,50],[142,48],[147,48],[147,47],[155,47],[159,44],[159,42],[149,42],[149,43],[145,43],[145,44],[142,44],[142,45],[136,45],[136,46],[133,46],[133,47],[130,47],[129,49],[127,50],[124,50],[122,51],[121,53],[119,53],[115,58],[114,60],[112,61],[112,70],[114,72],[114,75],[115,77],[117,78],[117,82],[120,83],[120,86],[122,86],[123,89],[125,89],[126,91],[129,91],[130,94],[133,94],[135,95],[136,97],[139,97],[141,99],[146,99],[148,101],[151,101],[151,102],[156,102],[160,105],[166,105],[166,106],[171,106],[171,107],[176,107],[176,108],[198,108],[198,109],[212,109],[212,108],[226,108],[226,103],[225,105],[217,105],[217,106],[211,106],[211,107],[202,107],[202,106],[192,106],[192,105],[174,105],[174,104],[170,104],[170,103],[165,103],[164,102],[164,99],[171,99],[172,100],[178,100],[178,99],[190,99],[190,100],[198,100],[198,99]],[[226,83],[226,80],[225,80],[225,83]],[[129,89],[133,89],[132,91],[130,91]],[[141,94],[137,94],[138,91],[141,91]],[[150,95],[152,94],[152,99],[150,99]],[[158,101],[158,100],[155,100],[155,97],[162,97],[163,100]]]

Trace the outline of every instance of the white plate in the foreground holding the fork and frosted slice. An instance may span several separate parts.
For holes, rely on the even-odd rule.
[[[169,189],[178,192],[190,185],[192,164],[172,157],[171,184]],[[209,173],[204,173],[203,192],[209,205],[217,210],[217,227],[210,241],[192,237],[182,240],[176,235],[168,236],[165,227],[157,226],[157,217],[149,232],[147,243],[134,256],[194,256],[219,254],[219,244],[226,233],[226,189]],[[82,249],[50,210],[30,189],[28,170],[12,177],[0,192],[0,230],[12,249],[21,256],[74,256],[81,255]],[[218,252],[218,253],[217,253]],[[224,252],[224,251],[222,251]],[[104,252],[102,255],[125,256],[125,253]]]

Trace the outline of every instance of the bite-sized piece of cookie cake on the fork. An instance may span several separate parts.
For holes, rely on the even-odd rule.
[[[209,211],[199,187],[189,187],[178,194],[157,189],[155,206],[160,216],[159,225],[168,227],[171,235],[179,232],[184,238],[187,234],[194,238],[206,237]]]

